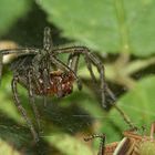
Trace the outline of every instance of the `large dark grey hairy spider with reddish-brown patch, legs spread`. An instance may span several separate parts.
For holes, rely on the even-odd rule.
[[[19,100],[18,84],[28,90],[29,100],[40,127],[34,95],[42,95],[43,97],[48,95],[65,96],[72,92],[74,81],[76,81],[78,87],[81,90],[82,83],[78,75],[78,68],[80,55],[83,55],[94,84],[99,83],[92,70],[92,65],[96,66],[99,71],[100,85],[97,85],[97,87],[101,94],[102,105],[105,106],[105,90],[107,90],[107,93],[110,91],[106,89],[104,81],[104,68],[100,59],[91,53],[86,46],[53,48],[50,28],[45,28],[42,49],[20,48],[0,51],[0,80],[2,75],[2,58],[3,55],[12,53],[18,55],[11,63],[11,70],[13,72],[11,85],[14,103],[27,121],[35,141],[39,140],[38,134]],[[62,62],[59,59],[60,54],[69,54],[68,62]]]

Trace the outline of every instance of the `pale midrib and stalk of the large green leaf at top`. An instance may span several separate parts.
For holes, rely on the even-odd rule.
[[[130,78],[130,75],[124,74],[124,69],[126,68],[130,61],[131,51],[124,2],[123,0],[115,0],[114,2],[121,37],[121,54],[113,64],[116,71],[114,80],[121,83],[122,85],[125,85],[127,89],[132,89],[134,87],[134,81]]]

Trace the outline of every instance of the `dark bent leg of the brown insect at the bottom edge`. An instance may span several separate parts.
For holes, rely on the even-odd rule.
[[[105,134],[100,134],[100,135],[99,134],[94,134],[94,135],[91,135],[89,137],[84,137],[84,141],[87,142],[87,141],[91,141],[93,138],[101,138],[97,155],[104,155],[104,152],[105,152],[105,140],[106,140]]]

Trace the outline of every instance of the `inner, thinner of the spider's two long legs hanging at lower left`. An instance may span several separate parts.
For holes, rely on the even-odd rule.
[[[28,72],[29,100],[30,100],[30,104],[32,106],[32,110],[33,110],[33,113],[34,113],[34,116],[35,116],[35,120],[37,120],[38,128],[39,128],[39,131],[41,131],[40,115],[39,115],[39,111],[38,111],[37,105],[35,105],[34,94],[33,94],[33,90],[32,90],[32,79],[33,79],[32,74],[33,74],[32,70],[30,70]]]

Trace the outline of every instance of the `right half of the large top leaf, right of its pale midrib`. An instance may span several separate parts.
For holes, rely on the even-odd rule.
[[[136,55],[155,53],[155,1],[124,1],[133,52]]]

